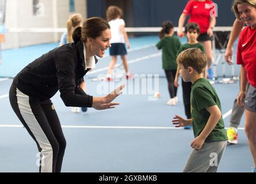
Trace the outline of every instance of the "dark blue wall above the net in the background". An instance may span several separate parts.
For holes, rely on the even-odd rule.
[[[170,20],[178,25],[188,0],[87,0],[88,17],[106,17],[106,8],[116,5],[123,9],[128,27],[160,26]],[[218,5],[217,26],[232,26],[235,16],[231,11],[232,0],[215,0]]]

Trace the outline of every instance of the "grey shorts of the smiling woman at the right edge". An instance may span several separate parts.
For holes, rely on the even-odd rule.
[[[251,112],[256,112],[256,87],[249,86],[244,99],[244,108]]]

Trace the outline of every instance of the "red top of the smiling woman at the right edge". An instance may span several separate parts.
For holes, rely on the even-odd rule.
[[[244,64],[248,82],[256,87],[256,28],[246,27],[240,33],[236,63]]]

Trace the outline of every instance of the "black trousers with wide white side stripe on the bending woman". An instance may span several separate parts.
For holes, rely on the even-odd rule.
[[[60,172],[66,140],[51,100],[29,97],[14,84],[10,87],[9,99],[17,117],[38,146],[40,163],[35,164],[39,166],[39,172]]]

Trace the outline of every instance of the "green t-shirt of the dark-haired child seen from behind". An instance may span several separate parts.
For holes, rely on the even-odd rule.
[[[180,40],[176,36],[166,36],[156,46],[162,49],[162,68],[177,70],[176,55],[181,47]]]

